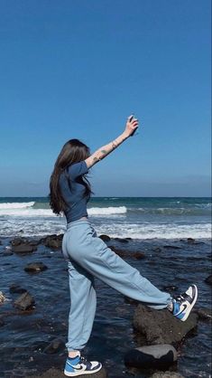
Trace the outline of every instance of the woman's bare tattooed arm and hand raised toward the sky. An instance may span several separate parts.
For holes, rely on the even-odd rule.
[[[92,154],[85,160],[88,168],[90,168],[92,165],[95,165],[97,162],[104,159],[107,155],[114,151],[115,148],[117,146],[120,146],[125,139],[134,134],[136,128],[138,128],[138,119],[134,118],[134,116],[128,117],[124,132],[119,137],[116,137],[115,140],[108,143],[106,146],[98,148],[97,151],[94,152],[94,154]]]

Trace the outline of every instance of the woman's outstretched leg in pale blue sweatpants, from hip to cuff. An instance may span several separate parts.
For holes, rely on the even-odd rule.
[[[69,232],[69,244],[66,243],[66,247],[71,258],[78,265],[125,296],[157,309],[167,307],[171,303],[170,294],[155,288],[139,270],[117,256],[97,237],[97,232],[89,223],[82,222],[72,228]]]

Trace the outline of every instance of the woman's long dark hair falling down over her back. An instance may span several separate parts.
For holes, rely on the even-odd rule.
[[[69,187],[71,188],[71,184],[69,181],[69,175],[66,172],[66,168],[74,163],[78,163],[82,160],[85,160],[90,156],[89,147],[86,146],[84,143],[80,142],[78,139],[70,139],[68,142],[62,146],[60,154],[55,162],[53,172],[51,174],[50,179],[50,206],[53,213],[60,215],[60,213],[64,213],[67,203],[65,202],[64,198],[60,193],[60,174],[62,172],[65,173],[67,176],[67,180],[69,183]],[[93,194],[91,191],[90,184],[88,179],[85,176],[79,176],[76,181],[78,183],[83,184],[85,186],[84,196]]]

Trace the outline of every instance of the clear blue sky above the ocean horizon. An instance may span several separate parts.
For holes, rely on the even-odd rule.
[[[210,1],[1,0],[0,196],[49,193],[61,146],[91,151],[98,196],[210,195]]]

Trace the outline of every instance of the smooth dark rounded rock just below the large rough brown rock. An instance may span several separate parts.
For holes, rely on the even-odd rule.
[[[166,369],[177,358],[178,353],[172,345],[149,345],[129,350],[124,355],[124,364],[143,369]]]

